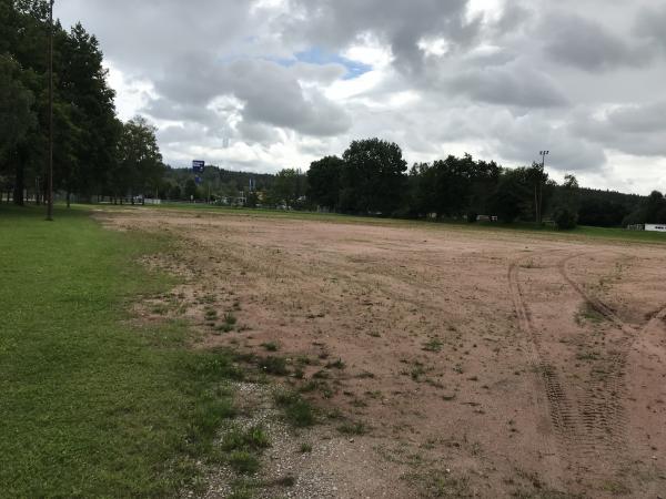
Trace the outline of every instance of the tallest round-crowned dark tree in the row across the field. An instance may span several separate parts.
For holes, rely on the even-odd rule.
[[[344,211],[391,215],[401,205],[407,165],[397,144],[354,141],[343,160],[340,204]]]

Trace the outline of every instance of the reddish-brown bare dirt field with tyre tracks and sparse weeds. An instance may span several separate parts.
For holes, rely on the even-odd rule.
[[[99,217],[180,238],[157,263],[186,277],[174,296],[202,332],[198,347],[266,355],[274,343],[302,369],[281,383],[330,417],[293,437],[311,454],[284,451],[293,442],[269,452],[265,473],[296,478],[282,496],[666,497],[664,246],[175,211]],[[218,330],[211,309],[241,327]],[[222,476],[211,473],[208,497],[224,497]]]

